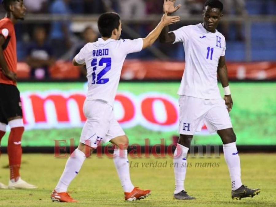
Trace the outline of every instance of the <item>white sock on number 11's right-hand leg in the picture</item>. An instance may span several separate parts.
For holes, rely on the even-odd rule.
[[[242,181],[239,154],[236,143],[232,142],[229,144],[223,144],[223,152],[231,177],[232,190],[237,190],[240,186],[242,186]]]

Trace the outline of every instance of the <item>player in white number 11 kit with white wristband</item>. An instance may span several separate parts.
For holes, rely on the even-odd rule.
[[[164,12],[175,12],[180,5],[174,7],[174,3],[174,0],[165,0]],[[241,181],[236,136],[229,117],[233,101],[225,64],[226,44],[224,36],[216,30],[223,16],[222,11],[223,4],[219,0],[208,0],[204,5],[203,23],[172,32],[165,27],[159,36],[163,43],[182,42],[186,59],[178,90],[180,138],[173,159],[176,199],[195,199],[185,191],[184,180],[190,142],[195,132],[201,131],[203,122],[210,132],[217,132],[223,142],[224,158],[232,182],[232,198],[253,197],[260,192],[260,189],[247,188]],[[217,75],[224,88],[224,99],[220,96]]]

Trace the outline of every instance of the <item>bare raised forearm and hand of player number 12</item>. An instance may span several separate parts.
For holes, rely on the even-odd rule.
[[[150,47],[152,44],[154,44],[154,42],[157,40],[158,36],[160,35],[162,29],[165,26],[174,24],[176,22],[180,21],[180,17],[179,16],[168,16],[168,12],[166,12],[161,21],[159,22],[159,24],[156,26],[156,28],[150,32],[150,34],[143,39],[143,49]]]

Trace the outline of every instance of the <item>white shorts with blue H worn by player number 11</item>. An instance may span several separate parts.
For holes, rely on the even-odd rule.
[[[201,132],[204,123],[210,133],[232,128],[231,119],[222,98],[207,100],[180,96],[179,107],[178,132],[180,134],[194,135],[195,132]]]

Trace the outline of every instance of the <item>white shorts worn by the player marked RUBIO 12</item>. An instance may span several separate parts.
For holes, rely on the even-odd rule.
[[[113,107],[101,100],[86,100],[84,115],[87,118],[82,129],[80,142],[92,148],[106,143],[117,136],[125,135],[115,119]]]

